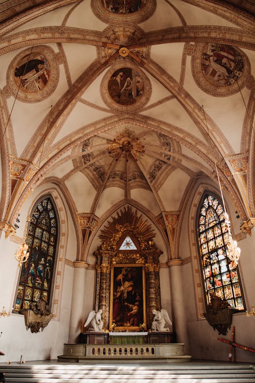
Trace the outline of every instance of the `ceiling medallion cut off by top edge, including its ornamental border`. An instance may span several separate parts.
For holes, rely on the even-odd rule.
[[[154,14],[156,6],[156,0],[91,0],[96,17],[108,24],[121,20],[140,23]]]

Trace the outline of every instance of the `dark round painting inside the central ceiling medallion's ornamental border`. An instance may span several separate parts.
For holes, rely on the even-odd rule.
[[[120,68],[111,76],[108,91],[117,104],[133,105],[143,95],[143,79],[134,68]]]

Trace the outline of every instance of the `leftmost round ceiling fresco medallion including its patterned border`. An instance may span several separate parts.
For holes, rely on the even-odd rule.
[[[55,52],[39,45],[21,52],[11,62],[7,82],[17,99],[38,102],[46,99],[56,88],[59,66]]]

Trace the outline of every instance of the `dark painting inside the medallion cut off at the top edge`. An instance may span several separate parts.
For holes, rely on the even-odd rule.
[[[134,13],[143,8],[146,0],[101,0],[104,8],[116,14]]]

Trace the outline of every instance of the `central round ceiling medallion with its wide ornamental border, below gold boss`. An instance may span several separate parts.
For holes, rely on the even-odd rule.
[[[121,63],[123,65],[121,65]],[[151,84],[133,63],[118,60],[101,83],[101,96],[110,107],[120,111],[137,110],[148,102]]]

